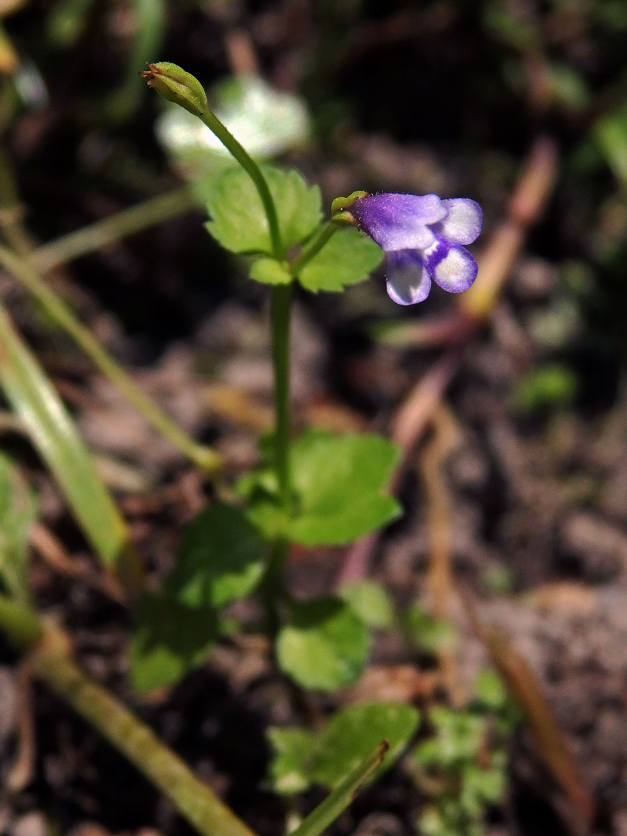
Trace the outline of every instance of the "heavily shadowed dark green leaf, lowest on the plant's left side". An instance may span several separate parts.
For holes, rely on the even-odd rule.
[[[146,594],[135,609],[130,678],[136,691],[178,682],[200,665],[217,635],[212,609],[190,607],[167,595]]]

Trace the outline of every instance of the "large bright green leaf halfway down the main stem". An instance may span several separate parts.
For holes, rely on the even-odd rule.
[[[385,494],[399,455],[382,436],[311,430],[292,445],[296,507],[290,516],[278,504],[268,467],[240,480],[237,491],[247,497],[248,515],[267,538],[343,545],[400,515],[398,502]]]

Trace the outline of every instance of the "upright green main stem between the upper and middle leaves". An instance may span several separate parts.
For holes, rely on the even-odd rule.
[[[274,369],[274,470],[278,497],[284,509],[292,499],[289,464],[289,312],[291,284],[277,284],[272,289],[272,349]]]

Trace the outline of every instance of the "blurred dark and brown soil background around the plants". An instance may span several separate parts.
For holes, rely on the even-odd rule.
[[[36,247],[175,186],[178,174],[155,140],[155,94],[137,79],[124,106],[110,106],[125,83],[139,6],[15,5],[0,4],[18,56],[18,69],[0,80],[7,155],[0,197],[6,206],[7,177],[14,176]],[[55,43],[54,15],[73,9],[74,34]],[[616,836],[627,836],[625,46],[621,0],[181,0],[166,4],[157,54],[131,67],[171,60],[209,88],[256,63],[268,81],[308,105],[311,138],[285,161],[321,184],[325,205],[362,188],[472,196],[485,212],[474,252],[507,213],[533,140],[553,137],[556,186],[489,323],[465,345],[434,426],[446,426],[453,439],[442,472],[457,588],[472,594],[482,622],[496,624],[527,660],[594,798],[592,832]],[[22,84],[35,79],[41,92],[16,93],[18,76]],[[622,125],[613,142],[599,140],[608,118]],[[256,461],[257,435],[271,415],[267,293],[220,252],[203,221],[201,212],[188,212],[59,268],[50,281],[145,391],[194,436],[216,444],[235,475]],[[159,578],[209,489],[6,274],[0,292],[98,456],[150,576]],[[382,273],[342,296],[299,293],[298,423],[385,431],[442,349],[385,344],[375,326],[426,322],[454,304],[435,288],[425,303],[397,308]],[[574,382],[570,396],[559,386],[538,394],[532,385],[531,395],[521,389],[546,364],[558,364],[560,380]],[[421,462],[431,431],[410,456],[400,487],[405,516],[381,538],[371,572],[399,603],[428,600]],[[127,609],[103,589],[33,450],[5,430],[1,441],[36,483],[43,524],[67,558],[54,561],[49,548],[33,543],[33,587],[43,611],[67,628],[82,664],[252,828],[283,833],[283,805],[264,788],[264,730],[307,723],[311,712],[349,701],[354,691],[303,704],[277,675],[268,648],[250,637],[219,648],[170,692],[140,700],[126,678]],[[298,550],[290,584],[303,594],[329,590],[342,559],[339,550]],[[463,703],[490,662],[459,601],[453,594]],[[191,833],[43,686],[33,686],[26,701],[28,685],[8,644],[0,645],[0,664],[3,776],[16,754],[20,713],[35,722],[33,767],[18,793],[0,798],[1,832]],[[371,698],[388,698],[392,687],[401,700],[451,700],[446,689],[434,696],[421,686],[433,667],[384,635],[362,687]],[[507,799],[490,813],[487,833],[585,833],[528,726],[512,739],[510,754]],[[420,808],[420,793],[397,767],[332,832],[405,836],[418,832]]]

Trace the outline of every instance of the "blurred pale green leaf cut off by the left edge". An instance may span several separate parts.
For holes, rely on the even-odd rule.
[[[28,604],[28,532],[38,502],[13,461],[0,453],[0,578],[8,592]]]

